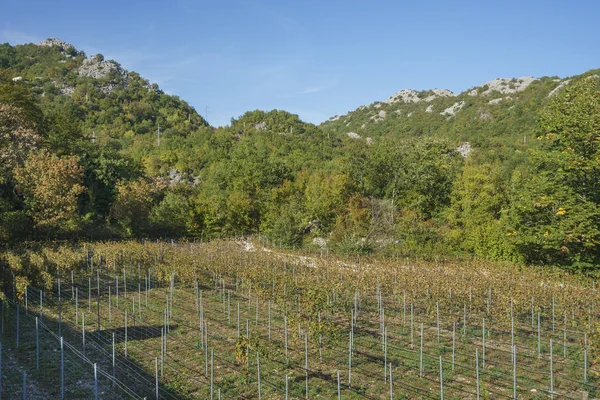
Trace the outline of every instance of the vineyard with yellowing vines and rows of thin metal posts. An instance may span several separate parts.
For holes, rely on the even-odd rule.
[[[0,257],[2,399],[600,396],[583,276],[247,239]]]

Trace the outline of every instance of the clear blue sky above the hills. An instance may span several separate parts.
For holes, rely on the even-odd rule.
[[[215,126],[273,108],[319,123],[405,88],[600,68],[598,15],[598,0],[3,0],[0,42],[102,53]]]

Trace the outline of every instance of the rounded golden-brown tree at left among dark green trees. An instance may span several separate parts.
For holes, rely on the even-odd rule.
[[[77,228],[78,199],[85,187],[83,168],[76,157],[40,151],[16,168],[14,177],[37,229],[50,235]]]

